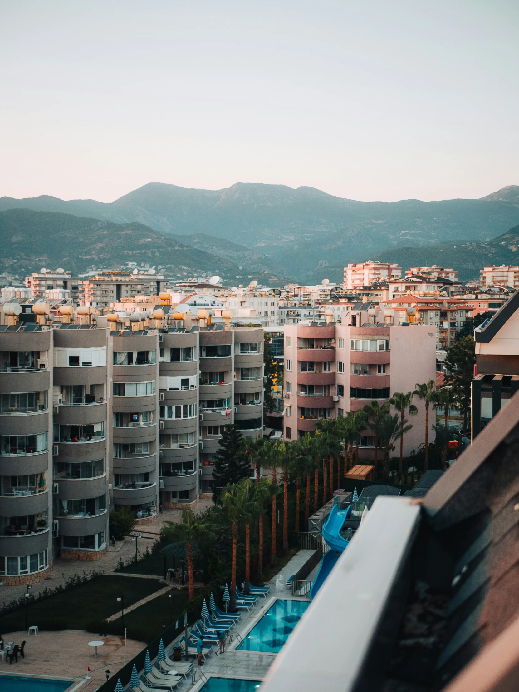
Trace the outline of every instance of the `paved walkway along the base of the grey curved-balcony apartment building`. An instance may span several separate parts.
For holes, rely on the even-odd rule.
[[[207,507],[210,507],[212,500],[202,499],[195,509],[195,513],[201,513],[205,511]],[[149,531],[153,534],[159,534],[160,529],[164,525],[164,522],[172,521],[178,522],[180,520],[180,509],[164,509],[162,514],[158,514],[151,524],[145,524],[142,527],[137,527],[135,531],[142,531],[142,536],[146,536],[144,531]],[[149,536],[149,538],[154,538]],[[158,536],[157,536],[158,538]],[[145,540],[141,538],[138,541],[138,555],[142,556],[146,552],[146,548],[151,549],[153,545],[153,540]],[[57,558],[54,561],[53,570],[49,573],[48,577],[44,581],[40,581],[36,584],[32,584],[31,593],[36,595],[44,589],[55,589],[60,584],[64,585],[67,579],[71,576],[79,575],[83,576],[84,573],[88,572],[104,572],[108,574],[114,572],[118,567],[120,560],[125,564],[131,558],[135,558],[135,542],[131,540],[128,536],[122,541],[116,541],[115,548],[111,545],[108,546],[106,551],[106,556],[99,562],[91,561],[79,561],[79,560],[62,560]],[[128,575],[130,576],[130,575]],[[144,576],[142,574],[136,574],[135,576]],[[0,603],[9,603],[15,599],[19,599],[26,592],[25,586],[0,586]]]

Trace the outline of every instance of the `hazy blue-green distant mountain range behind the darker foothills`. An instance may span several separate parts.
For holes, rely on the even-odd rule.
[[[218,260],[221,274],[267,272],[280,281],[292,277],[308,282],[323,277],[334,280],[348,262],[397,256],[395,261],[405,264],[403,257],[411,262],[411,257],[431,257],[435,250],[439,255],[434,256],[451,257],[446,253],[449,244],[451,250],[457,249],[454,245],[481,244],[478,252],[468,245],[465,250],[481,255],[475,259],[497,257],[500,251],[485,244],[519,224],[519,186],[509,185],[481,199],[360,202],[308,187],[294,190],[285,185],[236,183],[223,190],[197,190],[148,183],[111,203],[64,201],[46,195],[0,198],[0,211],[13,209],[86,217],[91,226],[98,219],[120,224],[120,230],[140,224],[139,233],[149,235],[144,230],[149,227],[176,247],[182,246],[184,253],[190,247],[209,254],[212,265],[211,261],[208,265]],[[133,230],[138,233],[136,227]],[[206,266],[202,255],[189,257],[191,264],[198,257]],[[167,264],[181,266],[179,262],[169,257]],[[188,266],[186,262],[182,265]],[[214,271],[209,266],[205,271]],[[470,266],[463,271],[473,273]]]

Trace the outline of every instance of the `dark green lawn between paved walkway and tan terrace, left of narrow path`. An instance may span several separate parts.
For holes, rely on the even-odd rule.
[[[131,576],[102,576],[80,584],[45,601],[29,603],[30,625],[39,629],[84,630],[92,621],[102,621],[120,610],[117,597],[124,596],[124,607],[164,588],[154,579]],[[153,602],[153,601],[152,601]],[[18,608],[0,618],[2,632],[13,632],[25,626],[26,609]],[[126,618],[125,618],[126,620]]]

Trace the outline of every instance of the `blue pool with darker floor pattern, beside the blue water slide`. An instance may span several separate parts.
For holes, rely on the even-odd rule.
[[[308,601],[278,599],[236,648],[278,653],[309,605]]]

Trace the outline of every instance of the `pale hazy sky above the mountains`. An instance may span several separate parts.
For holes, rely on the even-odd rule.
[[[0,0],[0,197],[519,185],[519,3]]]

